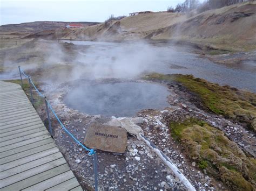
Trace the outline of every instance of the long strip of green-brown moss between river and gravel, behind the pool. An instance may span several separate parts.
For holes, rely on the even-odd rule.
[[[256,94],[237,90],[228,86],[219,86],[192,75],[151,74],[146,80],[178,82],[198,96],[206,108],[218,115],[245,123],[251,130],[256,130]]]

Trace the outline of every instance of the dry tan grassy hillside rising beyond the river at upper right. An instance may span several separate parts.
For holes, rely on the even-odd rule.
[[[80,40],[189,41],[228,51],[256,48],[256,2],[226,6],[203,13],[156,12],[88,26],[36,33],[32,38]]]

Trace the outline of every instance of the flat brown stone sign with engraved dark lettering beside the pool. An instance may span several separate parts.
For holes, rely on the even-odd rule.
[[[93,149],[124,153],[127,146],[127,132],[116,126],[92,124],[86,132],[84,144]]]

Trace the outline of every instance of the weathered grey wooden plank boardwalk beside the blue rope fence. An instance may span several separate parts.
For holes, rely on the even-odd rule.
[[[83,190],[21,86],[3,81],[0,190]]]

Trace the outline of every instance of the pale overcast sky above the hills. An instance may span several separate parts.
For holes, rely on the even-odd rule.
[[[185,0],[0,0],[0,25],[34,21],[104,22],[111,14],[166,11]]]

